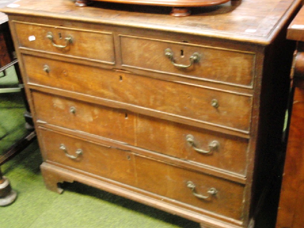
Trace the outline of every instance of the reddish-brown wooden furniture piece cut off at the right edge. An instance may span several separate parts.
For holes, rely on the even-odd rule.
[[[276,228],[301,228],[304,224],[304,8],[288,26],[287,38],[297,40],[292,66],[293,100],[284,175]]]

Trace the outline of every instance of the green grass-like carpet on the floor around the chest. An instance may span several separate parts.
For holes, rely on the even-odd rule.
[[[5,80],[14,81],[13,72],[9,74]],[[26,133],[24,111],[19,93],[0,94],[0,153]],[[13,204],[0,207],[1,228],[199,228],[187,219],[79,183],[64,184],[62,195],[48,191],[41,163],[34,141],[1,167],[18,192]],[[256,228],[274,227],[276,196],[268,197],[274,203],[264,206]]]

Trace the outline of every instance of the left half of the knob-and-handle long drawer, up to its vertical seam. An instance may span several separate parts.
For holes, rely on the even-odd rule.
[[[113,140],[134,143],[134,116],[128,112],[32,92],[37,120]]]

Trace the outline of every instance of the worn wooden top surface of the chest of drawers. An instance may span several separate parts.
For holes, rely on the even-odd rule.
[[[93,2],[77,7],[71,0],[21,0],[1,9],[8,15],[44,16],[117,26],[174,31],[269,44],[300,5],[300,0],[239,0],[192,8],[173,17],[171,7]]]

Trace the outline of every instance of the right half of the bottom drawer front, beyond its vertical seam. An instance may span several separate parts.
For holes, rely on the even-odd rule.
[[[139,188],[222,216],[242,219],[244,186],[140,156],[135,159]],[[197,194],[208,196],[210,188],[218,192],[209,199],[199,199],[187,187],[188,181],[196,185]]]

